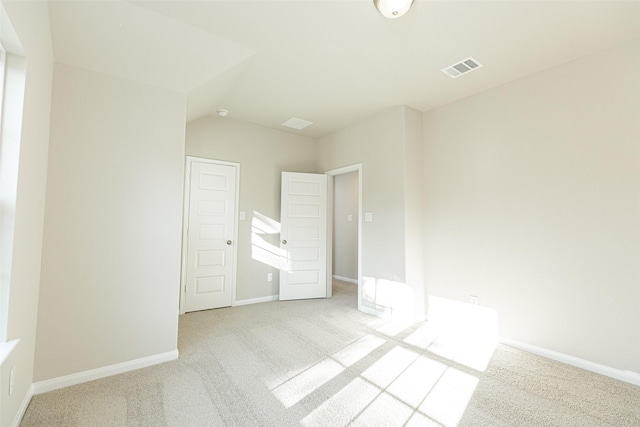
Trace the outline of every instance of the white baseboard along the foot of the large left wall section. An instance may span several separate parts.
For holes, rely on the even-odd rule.
[[[63,377],[52,378],[50,380],[38,381],[33,384],[33,393],[41,394],[48,391],[69,387],[112,375],[122,374],[136,369],[147,368],[160,363],[169,362],[178,358],[178,350],[166,353],[154,354],[153,356],[142,357],[128,362],[117,363],[115,365],[104,366],[102,368],[91,369],[76,374],[65,375]]]

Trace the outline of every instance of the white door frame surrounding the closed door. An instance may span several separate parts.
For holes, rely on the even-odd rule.
[[[215,165],[233,166],[236,169],[236,215],[238,214],[240,201],[240,163],[227,162],[224,160],[206,159],[204,157],[187,156],[184,176],[184,202],[182,214],[182,263],[180,271],[180,314],[185,314],[185,297],[187,294],[187,231],[189,230],[189,203],[191,201],[191,165],[194,162],[211,163]],[[237,218],[236,218],[237,219]],[[233,230],[233,262],[232,271],[233,278],[231,280],[231,306],[236,305],[236,276],[238,273],[238,221],[236,220],[235,229]]]

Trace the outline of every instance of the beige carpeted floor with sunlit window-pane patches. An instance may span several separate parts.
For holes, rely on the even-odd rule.
[[[37,395],[20,425],[640,426],[640,387],[503,345],[465,363],[459,328],[385,322],[355,292],[181,316],[178,360]]]

